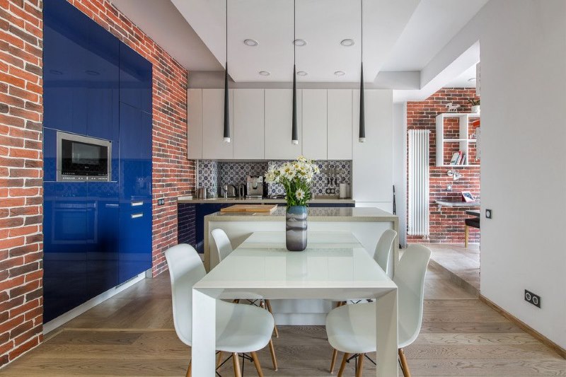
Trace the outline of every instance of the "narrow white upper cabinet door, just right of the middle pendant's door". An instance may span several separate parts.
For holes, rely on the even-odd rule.
[[[303,155],[313,160],[327,158],[327,102],[325,89],[303,91]]]

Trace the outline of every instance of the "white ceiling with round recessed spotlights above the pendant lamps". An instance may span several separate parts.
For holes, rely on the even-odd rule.
[[[224,66],[226,0],[111,1],[189,71],[220,71]],[[379,81],[376,76],[381,71],[394,74],[388,77],[400,83],[408,82],[487,1],[364,0],[365,81]],[[228,3],[231,78],[237,83],[291,81],[294,1]],[[359,81],[359,28],[359,0],[296,0],[296,37],[307,41],[305,47],[296,47],[296,65],[298,71],[308,73],[298,80]],[[258,40],[259,45],[244,45],[246,38]],[[345,38],[352,38],[355,45],[342,47],[340,40]],[[338,70],[345,71],[345,76],[335,76]],[[259,71],[271,74],[261,76]],[[451,79],[460,74],[454,73]],[[396,87],[388,81],[388,85],[405,84]]]

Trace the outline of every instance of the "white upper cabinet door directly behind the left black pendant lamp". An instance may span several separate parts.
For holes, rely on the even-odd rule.
[[[233,158],[233,90],[229,91],[231,142],[224,141],[224,89],[202,89],[202,158]]]

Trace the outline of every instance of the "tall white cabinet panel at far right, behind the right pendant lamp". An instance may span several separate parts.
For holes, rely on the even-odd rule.
[[[359,91],[353,91],[352,198],[356,202],[393,200],[393,91],[366,90],[366,141],[359,138]]]

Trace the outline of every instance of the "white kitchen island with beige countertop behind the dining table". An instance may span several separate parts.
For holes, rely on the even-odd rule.
[[[204,216],[204,266],[207,271],[218,264],[211,231],[223,229],[237,248],[254,232],[285,231],[285,207],[272,214],[215,212]],[[377,208],[309,207],[308,231],[351,232],[369,255],[374,254],[377,241],[386,229],[398,232],[398,216]],[[393,269],[398,261],[398,238],[393,241]],[[296,252],[289,252],[296,253]],[[297,252],[300,253],[300,252]],[[272,300],[275,320],[281,325],[323,325],[326,313],[333,308],[325,300]]]

